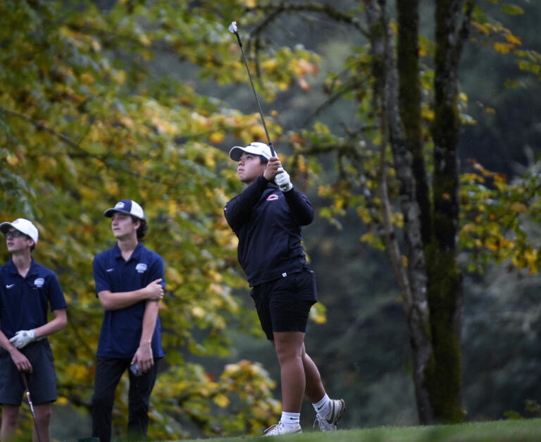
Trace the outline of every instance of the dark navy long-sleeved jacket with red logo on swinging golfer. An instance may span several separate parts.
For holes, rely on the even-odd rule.
[[[261,175],[225,205],[224,214],[239,238],[237,254],[250,287],[306,264],[301,226],[312,222],[313,209],[304,193],[282,192]]]

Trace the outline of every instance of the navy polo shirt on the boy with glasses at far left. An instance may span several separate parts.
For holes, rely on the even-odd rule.
[[[54,271],[33,258],[24,278],[13,259],[0,267],[0,330],[8,339],[46,324],[49,306],[51,311],[68,307]]]

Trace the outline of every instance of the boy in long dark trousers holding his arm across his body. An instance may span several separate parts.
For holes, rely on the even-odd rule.
[[[115,390],[129,368],[128,437],[144,439],[156,362],[164,356],[158,317],[166,286],[163,259],[140,243],[147,221],[137,202],[121,199],[104,215],[111,218],[117,243],[97,254],[93,264],[96,293],[105,313],[92,395],[92,436],[101,442],[111,440]]]

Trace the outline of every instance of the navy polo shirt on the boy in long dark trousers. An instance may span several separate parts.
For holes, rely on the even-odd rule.
[[[130,292],[149,285],[163,276],[163,259],[159,254],[137,244],[128,261],[122,257],[118,245],[94,257],[94,281],[96,293],[110,290],[111,293]],[[139,348],[139,340],[143,330],[143,316],[146,301],[130,305],[123,309],[106,310],[99,334],[98,356],[131,358]],[[161,347],[160,317],[156,319],[156,327],[152,336],[152,354],[163,357]]]

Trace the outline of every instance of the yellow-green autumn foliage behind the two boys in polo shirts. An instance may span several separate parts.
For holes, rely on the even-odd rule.
[[[51,338],[58,403],[90,405],[102,317],[92,258],[113,244],[104,209],[131,198],[147,213],[145,245],[163,256],[168,283],[160,313],[166,371],[151,399],[149,436],[253,432],[279,408],[266,372],[244,361],[213,381],[185,360],[228,355],[231,324],[244,331],[256,324],[254,312],[232,295],[245,283],[222,209],[240,183],[214,145],[225,134],[249,142],[263,129],[255,114],[242,115],[153,70],[168,56],[199,66],[201,78],[244,82],[226,25],[244,6],[114,3],[110,11],[64,1],[0,4],[0,214],[37,223],[35,258],[56,271],[68,300],[68,328]],[[301,78],[313,59],[300,48],[263,59],[275,85],[267,92]],[[270,131],[280,134],[273,123]],[[125,431],[126,401],[123,379],[117,434]]]

